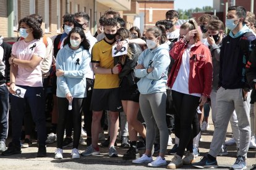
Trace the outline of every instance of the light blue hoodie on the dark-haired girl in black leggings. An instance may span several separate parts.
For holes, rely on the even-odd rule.
[[[64,70],[64,76],[57,77],[58,97],[66,97],[70,92],[72,97],[86,97],[86,68],[90,64],[90,53],[80,46],[70,49],[68,45],[60,49],[56,59],[56,70]]]

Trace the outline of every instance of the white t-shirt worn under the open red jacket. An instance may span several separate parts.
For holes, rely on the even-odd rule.
[[[177,75],[176,80],[174,81],[173,88],[172,88],[173,91],[181,92],[183,94],[189,94],[190,49],[194,46],[195,44],[193,45],[188,44],[187,49],[184,51],[182,55],[181,67],[179,68],[179,73]],[[197,93],[192,93],[190,95],[201,97],[201,94],[197,94]]]

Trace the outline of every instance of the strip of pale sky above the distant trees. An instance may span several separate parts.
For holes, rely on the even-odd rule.
[[[213,6],[213,0],[174,0],[174,9],[195,9],[204,6]]]

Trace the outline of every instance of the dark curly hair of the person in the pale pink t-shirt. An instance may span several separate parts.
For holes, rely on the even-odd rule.
[[[43,30],[41,29],[40,23],[33,17],[25,17],[22,18],[19,22],[19,30],[20,24],[25,23],[29,28],[32,28],[32,34],[35,39],[40,39],[43,36]]]

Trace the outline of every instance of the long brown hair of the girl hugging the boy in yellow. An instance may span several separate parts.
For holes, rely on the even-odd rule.
[[[119,28],[116,32],[116,35],[119,36],[119,38],[121,39],[121,41],[123,41],[126,38],[130,38],[130,31],[127,30],[126,28]],[[127,49],[127,54],[126,55],[121,55],[119,57],[119,62],[124,65],[124,62],[126,62],[126,57],[128,57],[128,59],[132,60],[132,56],[134,54],[132,53],[132,50],[130,49],[130,47],[128,46]]]

